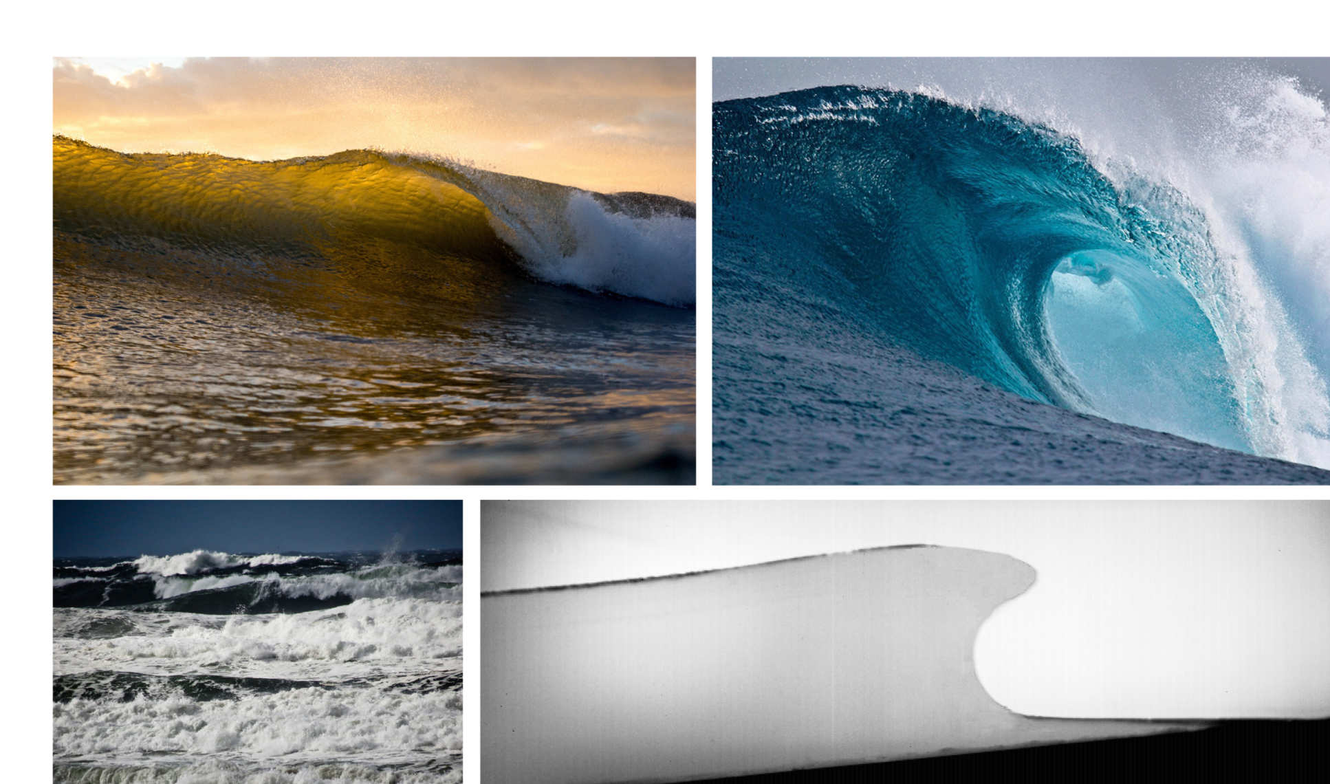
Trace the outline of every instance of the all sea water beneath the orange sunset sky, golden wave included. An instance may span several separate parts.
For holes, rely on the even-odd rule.
[[[693,204],[53,150],[57,483],[692,482]]]

